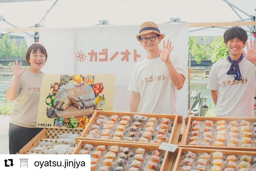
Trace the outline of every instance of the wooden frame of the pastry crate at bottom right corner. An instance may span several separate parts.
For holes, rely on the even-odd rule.
[[[205,148],[184,148],[180,147],[178,150],[178,155],[175,161],[175,165],[172,169],[172,171],[178,171],[180,167],[180,162],[181,162],[181,156],[184,152],[194,152],[194,153],[213,153],[213,152],[223,152],[224,155],[254,155],[256,156],[256,152],[248,152],[248,151],[237,151],[237,150],[220,150],[220,149],[205,149]]]

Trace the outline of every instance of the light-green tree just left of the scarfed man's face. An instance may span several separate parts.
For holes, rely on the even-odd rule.
[[[228,50],[227,50],[227,46],[225,45],[224,39],[222,36],[216,37],[214,42],[211,43],[210,47],[212,49],[211,61],[213,63],[219,61],[220,59],[227,57]]]

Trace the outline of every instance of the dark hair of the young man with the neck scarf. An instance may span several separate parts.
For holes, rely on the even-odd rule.
[[[243,43],[245,43],[248,39],[246,31],[244,29],[242,29],[242,27],[240,27],[240,26],[234,26],[234,27],[231,27],[231,28],[227,29],[224,32],[223,37],[224,37],[224,42],[226,44],[229,40],[232,40],[232,39],[235,39],[235,38],[243,41]]]

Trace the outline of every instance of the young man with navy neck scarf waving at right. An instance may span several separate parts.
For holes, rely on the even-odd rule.
[[[253,117],[256,85],[255,42],[247,42],[246,31],[234,26],[224,32],[229,55],[214,63],[207,88],[211,90],[217,116]],[[246,46],[247,52],[243,50]]]

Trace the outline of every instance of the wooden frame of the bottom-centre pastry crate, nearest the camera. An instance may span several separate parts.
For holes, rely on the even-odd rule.
[[[92,144],[92,145],[119,145],[122,147],[131,147],[131,148],[145,148],[146,150],[156,150],[159,148],[159,145],[156,144],[145,144],[145,143],[127,143],[127,142],[110,142],[110,141],[95,141],[95,140],[86,140],[86,139],[80,139],[78,140],[77,148],[75,149],[74,154],[79,154],[79,151],[83,147],[83,144]],[[178,152],[178,151],[177,151]],[[174,153],[165,152],[160,171],[171,171],[172,166],[174,164]]]

